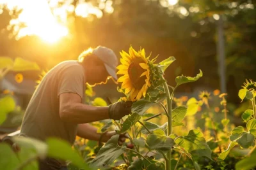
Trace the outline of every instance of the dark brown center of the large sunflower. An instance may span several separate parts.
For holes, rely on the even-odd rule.
[[[140,63],[145,62],[142,59],[134,59],[128,68],[129,78],[135,89],[141,89],[147,78],[146,76],[140,76],[143,72],[146,71],[145,69],[141,68]]]

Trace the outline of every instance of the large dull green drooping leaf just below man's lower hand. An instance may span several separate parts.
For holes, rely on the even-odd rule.
[[[116,158],[125,152],[125,146],[118,145],[119,135],[112,136],[105,145],[100,148],[95,159],[90,162],[90,165],[100,167],[106,164],[112,164]]]

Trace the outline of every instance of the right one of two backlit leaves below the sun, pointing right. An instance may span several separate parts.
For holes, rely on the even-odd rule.
[[[17,57],[14,60],[12,71],[28,71],[28,70],[40,70],[40,67],[36,62],[31,62]]]

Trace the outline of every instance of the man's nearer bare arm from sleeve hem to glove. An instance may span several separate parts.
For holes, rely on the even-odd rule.
[[[60,94],[60,118],[65,122],[86,124],[109,118],[108,106],[95,107],[81,103],[78,94]]]

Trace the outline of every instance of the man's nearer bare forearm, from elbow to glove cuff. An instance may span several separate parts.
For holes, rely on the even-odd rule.
[[[95,107],[87,104],[76,103],[67,106],[60,113],[60,117],[65,122],[76,124],[86,124],[109,118],[108,107]]]

